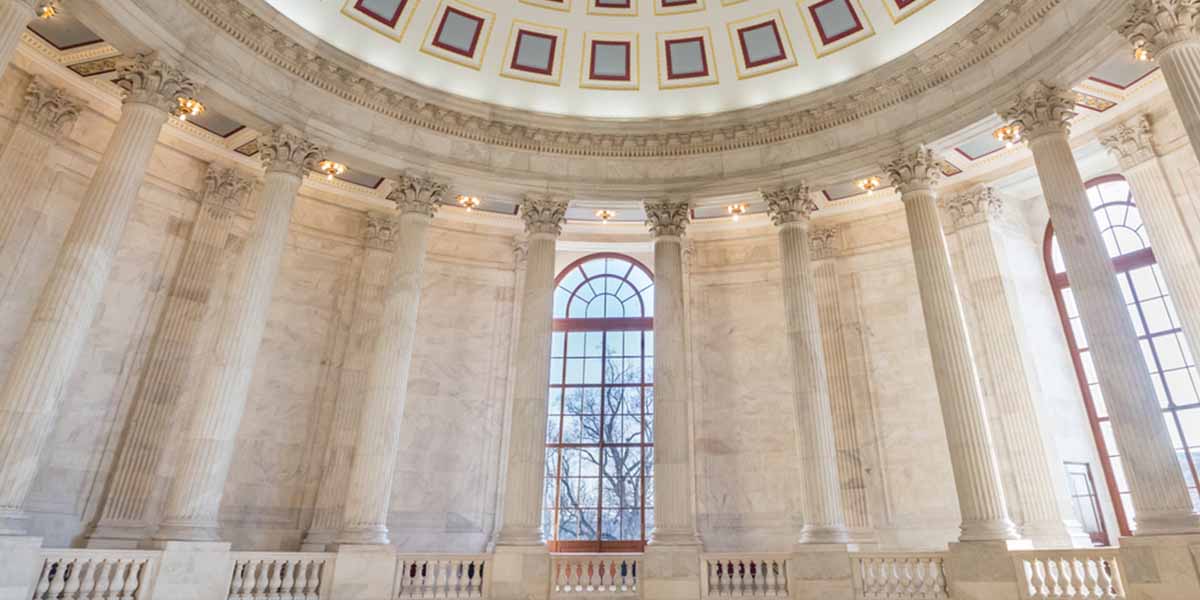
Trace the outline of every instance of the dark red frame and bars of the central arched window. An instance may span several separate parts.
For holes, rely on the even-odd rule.
[[[558,274],[558,276],[554,278],[556,289],[558,288],[558,286],[562,283],[562,281],[565,277],[568,277],[576,269],[580,269],[581,265],[586,265],[587,263],[590,263],[590,262],[594,262],[594,260],[600,260],[600,259],[606,259],[606,258],[623,260],[623,262],[628,262],[630,264],[629,269],[619,278],[623,280],[623,281],[625,281],[625,282],[628,282],[634,289],[637,289],[637,288],[636,288],[636,286],[632,284],[632,282],[629,281],[629,277],[630,277],[630,275],[632,275],[632,272],[634,272],[635,269],[636,270],[641,270],[649,278],[650,284],[647,286],[646,288],[638,290],[638,296],[641,296],[641,293],[644,292],[646,289],[650,289],[650,288],[654,287],[654,274],[650,272],[650,270],[644,264],[642,264],[640,260],[637,260],[636,258],[632,258],[632,257],[629,257],[629,256],[625,256],[625,254],[620,254],[620,253],[616,253],[616,252],[599,252],[599,253],[588,254],[586,257],[582,257],[582,258],[572,262],[571,264],[569,264],[566,268],[564,268]],[[568,300],[568,308],[566,308],[566,312],[564,314],[570,314],[571,302],[578,300],[578,296],[577,296],[578,290],[584,284],[587,284],[588,282],[593,281],[594,278],[598,278],[598,277],[601,277],[601,276],[604,276],[604,277],[612,277],[612,275],[604,275],[604,274],[592,275],[592,274],[584,272],[584,275],[586,275],[584,281],[582,283],[580,283],[574,290],[569,290],[569,292],[571,292],[571,296]],[[653,306],[646,306],[644,299],[641,299],[641,300],[643,302],[643,312],[642,312],[642,314],[653,313]],[[630,383],[619,383],[619,384],[613,384],[613,383],[607,382],[608,377],[607,377],[606,370],[607,370],[607,366],[608,366],[608,361],[606,359],[608,358],[608,353],[607,353],[607,350],[608,350],[608,340],[607,340],[608,334],[611,334],[611,332],[624,332],[624,331],[653,332],[654,331],[654,318],[653,317],[620,317],[620,318],[578,318],[578,317],[576,317],[576,318],[570,318],[570,317],[565,317],[564,316],[563,318],[557,318],[556,317],[553,319],[553,331],[554,332],[564,332],[564,335],[562,336],[562,344],[563,344],[563,354],[562,354],[562,356],[563,356],[563,360],[562,360],[562,367],[560,367],[562,368],[562,373],[559,373],[558,378],[556,379],[559,383],[551,383],[550,384],[550,390],[553,391],[553,390],[560,389],[560,390],[563,390],[563,392],[558,395],[559,410],[558,410],[558,425],[557,425],[557,430],[556,430],[558,432],[558,442],[550,442],[550,440],[546,442],[546,449],[547,449],[547,451],[552,450],[552,449],[557,449],[558,450],[557,452],[554,452],[554,456],[557,456],[557,458],[558,458],[557,464],[553,464],[553,466],[552,464],[547,464],[546,466],[547,476],[551,473],[553,473],[553,478],[554,478],[554,484],[553,484],[554,485],[554,505],[553,506],[542,506],[544,511],[550,511],[551,512],[550,530],[544,533],[544,535],[546,538],[546,545],[547,545],[547,547],[550,548],[551,552],[642,552],[642,551],[646,550],[646,540],[649,536],[649,530],[647,528],[646,511],[647,511],[647,508],[649,508],[649,505],[652,505],[653,502],[654,502],[653,494],[650,492],[648,492],[648,490],[647,490],[647,482],[648,482],[648,479],[652,478],[652,472],[653,472],[653,450],[654,450],[654,443],[653,443],[653,440],[647,440],[646,439],[646,426],[647,426],[647,424],[652,424],[653,425],[653,419],[654,419],[653,412],[650,412],[648,409],[648,407],[647,407],[647,402],[646,402],[647,394],[646,394],[646,391],[648,389],[650,391],[653,391],[654,382],[653,382],[652,378],[647,377],[646,368],[644,368],[646,359],[653,359],[653,348],[647,348],[647,336],[642,335],[641,336],[641,358],[642,358],[643,368],[642,368],[642,372],[641,372],[641,378],[640,378],[641,380],[638,383],[631,383],[631,384]],[[601,352],[601,356],[600,356],[600,359],[601,359],[600,360],[600,364],[601,364],[600,383],[599,384],[587,384],[587,383],[582,383],[582,384],[574,384],[574,383],[572,384],[568,384],[568,383],[565,383],[566,379],[568,379],[566,378],[566,370],[568,370],[568,360],[566,360],[568,352],[566,352],[566,346],[568,346],[568,343],[570,341],[571,334],[584,334],[584,332],[600,332],[601,334],[601,348],[602,348],[602,352]],[[552,356],[553,356],[553,353],[556,350],[553,348],[551,348],[550,352],[552,353]],[[552,374],[552,377],[553,377],[553,374]],[[604,424],[605,422],[605,408],[607,406],[607,391],[610,389],[612,389],[612,388],[618,388],[618,386],[619,388],[625,388],[625,389],[637,389],[637,390],[640,390],[640,400],[641,400],[640,401],[640,413],[641,413],[640,416],[641,416],[641,424],[642,424],[641,442],[634,443],[634,444],[626,444],[626,443],[613,444],[611,442],[607,442],[607,440],[602,439],[602,436],[601,436],[601,439],[598,443],[583,443],[583,444],[563,443],[563,424],[564,424],[565,416],[568,416],[566,415],[566,406],[565,406],[565,403],[566,403],[566,390],[570,390],[570,389],[581,389],[581,388],[599,388],[600,389],[600,422]],[[553,418],[553,415],[551,418]],[[547,433],[550,433],[550,432],[547,432]],[[604,481],[605,481],[604,461],[606,458],[604,449],[605,448],[612,448],[612,446],[629,446],[629,448],[640,448],[641,449],[641,455],[642,455],[641,480],[640,480],[640,493],[641,493],[641,503],[640,504],[641,505],[638,508],[638,512],[641,514],[642,536],[641,536],[640,540],[604,540],[604,510],[605,510],[605,504],[604,504],[604,494],[605,494],[605,491],[604,491],[604,485],[605,485],[604,484]],[[600,456],[600,461],[601,462],[600,462],[600,466],[598,467],[598,469],[599,469],[599,473],[598,473],[599,484],[598,484],[598,488],[596,488],[596,496],[598,496],[598,498],[596,498],[596,508],[595,508],[595,516],[596,516],[596,520],[595,520],[596,539],[595,540],[559,540],[558,539],[558,532],[559,532],[558,524],[559,524],[559,516],[560,516],[559,504],[560,504],[562,479],[563,479],[563,456],[565,455],[565,452],[563,451],[563,449],[571,449],[571,448],[594,448],[594,449],[596,449],[596,452]]]

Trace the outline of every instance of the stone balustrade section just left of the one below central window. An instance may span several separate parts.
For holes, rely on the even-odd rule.
[[[401,554],[392,598],[487,598],[484,554]]]

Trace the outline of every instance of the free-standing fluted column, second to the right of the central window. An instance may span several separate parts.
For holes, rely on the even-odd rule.
[[[763,192],[772,222],[779,227],[784,270],[784,323],[792,358],[792,402],[800,458],[802,544],[845,544],[846,515],[838,479],[838,450],[816,282],[809,259],[809,217],[817,205],[800,184]],[[661,359],[660,359],[661,360]]]

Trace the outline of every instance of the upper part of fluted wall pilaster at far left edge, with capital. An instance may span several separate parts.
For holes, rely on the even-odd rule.
[[[29,239],[31,227],[17,228],[22,214],[44,192],[46,168],[50,148],[70,134],[83,104],[66,90],[55,88],[41,77],[34,77],[25,88],[25,104],[20,109],[12,137],[0,164],[5,166],[5,185],[0,186],[0,253],[20,247]],[[8,288],[12,269],[0,269],[0,294]]]

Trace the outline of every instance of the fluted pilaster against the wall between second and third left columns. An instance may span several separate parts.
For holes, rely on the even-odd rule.
[[[160,461],[173,431],[172,419],[187,384],[214,280],[228,258],[229,232],[253,186],[253,179],[232,168],[210,166],[204,175],[191,238],[151,342],[89,546],[134,547],[149,533],[148,526],[152,532],[146,517],[155,488],[167,482],[160,476]]]

